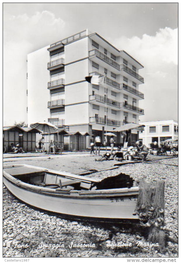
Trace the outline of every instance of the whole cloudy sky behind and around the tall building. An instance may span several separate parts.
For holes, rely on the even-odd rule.
[[[3,125],[27,123],[27,54],[86,28],[144,66],[140,121],[178,120],[177,3],[4,3]]]

